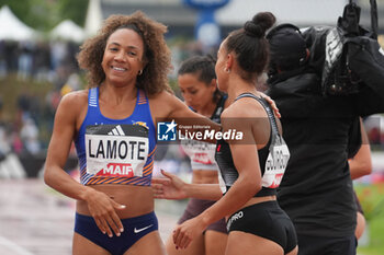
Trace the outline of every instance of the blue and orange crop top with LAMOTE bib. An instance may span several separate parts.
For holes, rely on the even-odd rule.
[[[156,129],[148,97],[137,90],[133,114],[124,119],[104,117],[99,88],[88,93],[88,112],[75,141],[83,185],[149,186],[156,151]]]

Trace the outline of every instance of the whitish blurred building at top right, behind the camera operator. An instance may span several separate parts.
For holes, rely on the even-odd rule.
[[[217,20],[223,25],[241,25],[247,19],[260,11],[272,12],[279,23],[294,23],[300,27],[310,25],[335,25],[342,15],[349,0],[231,0],[217,12]],[[360,24],[371,25],[370,1],[353,0],[361,7]],[[376,0],[379,27],[384,33],[384,0]],[[382,18],[382,19],[381,19]]]

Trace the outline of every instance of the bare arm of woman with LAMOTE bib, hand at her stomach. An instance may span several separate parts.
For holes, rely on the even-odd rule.
[[[81,185],[64,170],[76,134],[78,116],[81,109],[87,107],[87,101],[86,104],[81,104],[83,102],[81,93],[83,92],[66,95],[57,108],[47,151],[44,181],[48,186],[70,198],[87,201],[99,229],[110,236],[112,236],[112,231],[120,235],[123,225],[115,209],[124,209],[125,206],[116,204],[103,193]]]

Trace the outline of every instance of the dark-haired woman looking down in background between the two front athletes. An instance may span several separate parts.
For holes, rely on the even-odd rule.
[[[195,56],[183,61],[178,71],[178,84],[188,106],[215,123],[221,121],[227,96],[217,90],[215,61],[212,57]],[[214,159],[216,146],[185,139],[181,140],[181,147],[191,160],[192,183],[217,184],[218,166]],[[199,216],[213,204],[212,200],[191,198],[178,224]],[[188,248],[176,250],[172,236],[167,241],[166,247],[169,255],[222,255],[226,243],[227,230],[223,218],[210,224]]]

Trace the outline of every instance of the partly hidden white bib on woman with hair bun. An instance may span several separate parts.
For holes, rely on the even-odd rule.
[[[290,151],[282,137],[278,137],[280,142],[272,144],[266,161],[266,170],[261,179],[261,185],[268,188],[276,188],[284,176]]]

